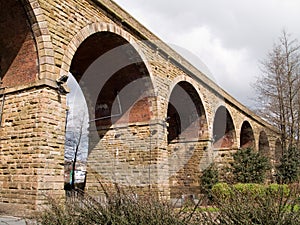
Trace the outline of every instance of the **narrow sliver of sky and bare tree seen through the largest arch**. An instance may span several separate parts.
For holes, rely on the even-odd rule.
[[[66,96],[68,110],[65,126],[64,189],[72,190],[76,185],[76,188],[84,190],[89,148],[89,113],[83,92],[71,73],[67,85],[70,92]]]

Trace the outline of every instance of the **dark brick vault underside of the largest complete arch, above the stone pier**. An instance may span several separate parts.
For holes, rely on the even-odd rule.
[[[152,80],[139,53],[123,37],[109,31],[88,36],[77,48],[70,72],[89,101],[96,127],[150,120]]]

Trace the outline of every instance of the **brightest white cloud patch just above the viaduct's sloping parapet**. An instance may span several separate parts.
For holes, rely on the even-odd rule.
[[[195,28],[174,41],[180,47],[185,46],[197,55],[199,60],[208,67],[212,80],[219,86],[231,91],[245,104],[250,103],[247,97],[253,93],[249,83],[258,71],[257,62],[252,60],[248,49],[225,48],[222,40],[214,36],[206,27]],[[235,89],[235,87],[239,88]]]

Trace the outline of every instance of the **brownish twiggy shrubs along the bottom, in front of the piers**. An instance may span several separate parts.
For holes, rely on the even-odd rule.
[[[193,216],[194,209],[175,209],[156,198],[140,197],[117,190],[106,192],[105,201],[97,201],[85,194],[68,201],[49,200],[49,207],[35,221],[41,225],[81,224],[139,224],[139,225],[187,225],[199,224],[200,217]]]

